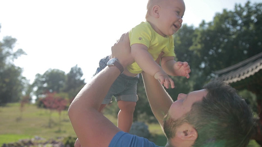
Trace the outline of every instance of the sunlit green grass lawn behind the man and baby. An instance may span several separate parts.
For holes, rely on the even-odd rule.
[[[106,115],[113,123],[117,123],[115,117]],[[21,115],[19,103],[8,104],[0,107],[0,147],[4,143],[17,142],[20,139],[31,139],[35,136],[45,139],[58,137],[76,137],[73,127],[67,116],[67,111],[61,113],[59,130],[59,115],[57,111],[51,113],[46,109],[39,109],[35,105],[26,105]],[[49,123],[51,122],[51,123]],[[51,125],[51,127],[49,126]],[[150,133],[154,136],[154,143],[165,146],[166,137],[160,125],[148,124]],[[255,141],[251,141],[248,147],[260,147]]]

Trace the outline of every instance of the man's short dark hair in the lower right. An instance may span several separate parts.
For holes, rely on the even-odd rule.
[[[197,130],[193,147],[246,147],[255,125],[247,103],[223,81],[212,81],[204,89],[208,91],[206,97],[195,102],[179,121]],[[174,137],[175,132],[167,133]]]

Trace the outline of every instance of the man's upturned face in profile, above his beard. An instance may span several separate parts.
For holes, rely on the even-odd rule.
[[[169,109],[169,116],[173,120],[177,120],[184,114],[191,110],[192,104],[200,101],[205,97],[207,91],[205,89],[193,91],[189,94],[179,94],[177,100],[171,105]]]

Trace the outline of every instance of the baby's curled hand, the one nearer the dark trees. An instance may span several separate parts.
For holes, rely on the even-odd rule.
[[[187,62],[177,61],[174,64],[174,70],[176,76],[185,76],[186,78],[190,77],[189,73],[191,72],[191,70]]]

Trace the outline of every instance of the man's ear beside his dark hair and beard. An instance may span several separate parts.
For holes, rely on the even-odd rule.
[[[191,124],[184,123],[176,130],[175,136],[181,140],[195,141],[198,138],[198,132]]]

